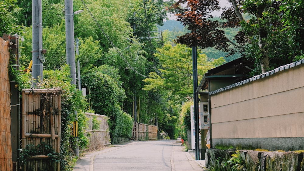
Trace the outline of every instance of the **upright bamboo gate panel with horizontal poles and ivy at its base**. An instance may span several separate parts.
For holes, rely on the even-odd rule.
[[[60,170],[61,90],[22,89],[23,170]]]

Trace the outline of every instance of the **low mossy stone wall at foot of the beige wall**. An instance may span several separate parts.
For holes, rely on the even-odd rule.
[[[292,171],[292,170],[304,170],[304,159],[302,151],[289,151],[289,152],[278,152],[278,151],[256,151],[256,150],[239,150],[228,149],[207,149],[205,166],[208,169],[220,168],[220,170],[229,170],[223,168],[232,154],[239,153],[239,159],[244,162],[243,165],[239,166],[240,170],[248,171]],[[229,164],[227,167],[232,168]]]

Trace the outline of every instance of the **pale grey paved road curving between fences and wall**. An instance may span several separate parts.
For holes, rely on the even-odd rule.
[[[202,171],[203,169],[188,152],[183,151],[181,144],[176,144],[176,140],[156,140],[133,141],[100,151],[87,161],[80,160],[74,170]]]

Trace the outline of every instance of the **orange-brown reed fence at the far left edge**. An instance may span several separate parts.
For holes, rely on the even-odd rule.
[[[9,42],[0,38],[0,170],[12,170]]]

